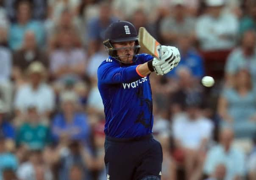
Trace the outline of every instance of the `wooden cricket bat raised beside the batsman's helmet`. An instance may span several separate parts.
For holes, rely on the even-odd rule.
[[[161,44],[147,32],[145,27],[139,28],[139,45],[139,53],[150,54],[161,59]]]

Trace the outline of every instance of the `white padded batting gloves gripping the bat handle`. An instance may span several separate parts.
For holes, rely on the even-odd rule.
[[[158,75],[164,75],[173,70],[181,60],[178,48],[174,46],[162,46],[161,59],[153,59],[152,65]]]

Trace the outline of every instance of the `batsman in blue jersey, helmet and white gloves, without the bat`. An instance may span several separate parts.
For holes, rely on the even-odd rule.
[[[98,67],[98,89],[106,123],[107,180],[160,180],[161,144],[152,135],[150,73],[164,75],[178,65],[177,48],[161,46],[161,59],[139,53],[136,29],[128,21],[112,23],[103,44],[109,54]]]

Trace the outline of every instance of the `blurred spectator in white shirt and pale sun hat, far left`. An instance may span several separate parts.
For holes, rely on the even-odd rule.
[[[14,97],[17,118],[21,118],[31,104],[36,106],[40,116],[49,118],[55,105],[55,95],[52,88],[44,83],[45,73],[41,62],[29,65],[28,84],[21,86]]]

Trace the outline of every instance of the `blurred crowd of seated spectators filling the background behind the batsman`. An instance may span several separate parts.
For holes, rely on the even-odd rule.
[[[162,180],[256,180],[255,0],[0,0],[0,180],[106,180],[97,67],[117,20],[181,52],[150,75]]]

